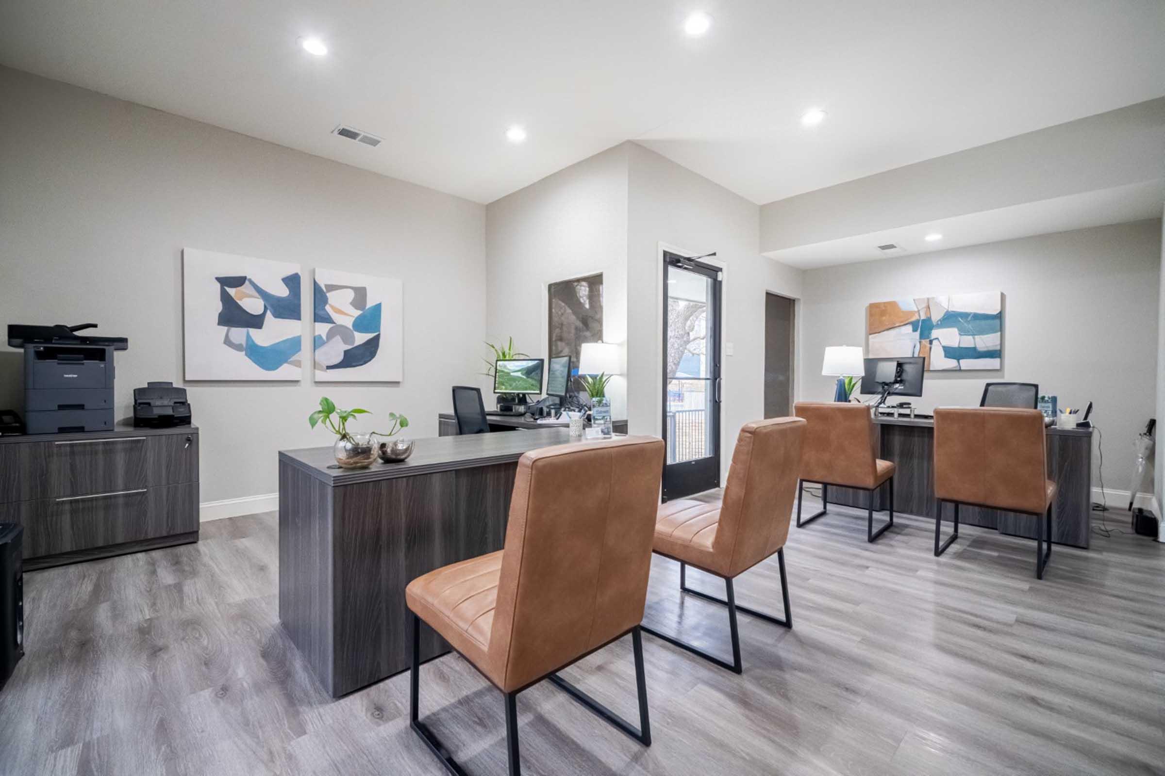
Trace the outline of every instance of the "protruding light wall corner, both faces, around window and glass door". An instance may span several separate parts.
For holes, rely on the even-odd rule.
[[[723,465],[764,414],[764,294],[797,298],[800,270],[757,251],[758,208],[636,143],[623,143],[487,206],[487,334],[546,355],[548,283],[603,272],[603,339],[624,344],[616,418],[661,433],[659,245],[725,263]]]

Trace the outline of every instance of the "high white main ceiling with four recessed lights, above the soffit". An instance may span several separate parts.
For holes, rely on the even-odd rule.
[[[763,204],[1160,97],[1163,36],[1162,0],[0,3],[0,63],[480,202],[638,140]]]

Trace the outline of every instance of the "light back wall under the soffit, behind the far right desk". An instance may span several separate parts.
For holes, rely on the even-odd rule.
[[[828,400],[820,376],[831,344],[862,344],[866,305],[970,291],[1002,291],[1003,369],[927,372],[930,411],[977,405],[986,380],[1039,383],[1060,406],[1094,403],[1103,434],[1104,486],[1128,490],[1132,440],[1157,412],[1162,225],[1137,221],[1009,240],[918,257],[807,270],[802,309],[804,400]],[[1100,458],[1093,454],[1093,485]]]

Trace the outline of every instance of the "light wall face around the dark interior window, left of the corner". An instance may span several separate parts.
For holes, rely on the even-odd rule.
[[[627,339],[627,150],[616,145],[486,207],[487,323],[479,340],[514,337],[546,353],[546,286],[602,272],[602,337]],[[479,361],[479,366],[485,368]],[[480,370],[479,370],[480,371]],[[483,389],[492,391],[487,378]],[[627,418],[623,377],[607,389],[612,417]],[[489,394],[487,393],[487,397]]]

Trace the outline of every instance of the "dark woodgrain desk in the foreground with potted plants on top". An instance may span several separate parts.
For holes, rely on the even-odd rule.
[[[566,428],[419,439],[408,461],[355,470],[329,469],[330,447],[280,451],[280,620],[333,698],[409,668],[405,585],[502,549],[518,458],[566,442]],[[421,638],[422,660],[450,649]]]

